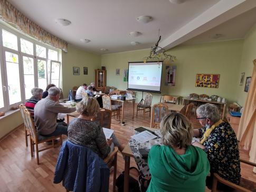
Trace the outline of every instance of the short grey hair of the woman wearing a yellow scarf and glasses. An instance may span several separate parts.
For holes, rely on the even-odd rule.
[[[202,118],[211,119],[211,121],[214,123],[221,119],[219,109],[216,105],[211,103],[200,105],[200,107],[196,109],[196,114]]]

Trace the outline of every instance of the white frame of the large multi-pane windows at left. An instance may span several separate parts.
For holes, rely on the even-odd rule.
[[[12,33],[12,34],[17,36],[18,51],[3,46],[2,30],[5,30],[5,31],[7,31],[9,33]],[[33,55],[21,52],[21,38],[33,43],[33,52],[34,52]],[[46,58],[36,56],[36,44],[46,48]],[[46,62],[46,68],[48,68],[48,65],[51,66],[51,60],[48,60],[48,50],[49,49],[58,52],[58,61],[53,61],[53,62],[60,63],[60,68],[61,68],[61,62],[60,62],[61,50],[56,49],[55,47],[51,47],[49,45],[43,44],[43,43],[33,39],[32,37],[28,37],[26,35],[23,35],[21,32],[18,32],[15,28],[12,28],[11,26],[7,27],[7,26],[5,26],[5,24],[2,24],[0,22],[0,69],[1,69],[1,77],[2,77],[2,79],[0,81],[2,81],[3,100],[4,100],[4,107],[0,108],[0,111],[8,111],[8,110],[10,110],[11,107],[17,107],[18,104],[26,102],[26,100],[25,100],[25,87],[24,87],[25,84],[24,84],[23,56],[33,58],[33,61],[34,61],[34,85],[35,85],[35,87],[37,87],[38,86],[37,61],[38,60],[44,60]],[[9,95],[8,95],[8,90],[7,90],[8,89],[8,85],[7,85],[8,82],[7,82],[7,71],[6,71],[6,67],[5,67],[5,65],[6,65],[5,64],[6,63],[5,51],[15,53],[15,54],[18,55],[18,64],[19,64],[19,73],[20,73],[21,102],[14,103],[12,105],[10,105]],[[50,70],[50,72],[51,72],[51,70]],[[47,84],[49,84],[49,82],[51,82],[51,79],[49,79],[48,77],[49,77],[48,70],[46,70],[46,83]],[[59,73],[59,84],[60,84],[60,81],[61,81],[61,75]]]

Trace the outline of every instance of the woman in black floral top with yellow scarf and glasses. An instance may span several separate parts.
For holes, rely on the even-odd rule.
[[[207,187],[212,187],[213,172],[219,174],[234,184],[240,181],[240,158],[238,140],[235,132],[229,123],[223,122],[216,105],[206,103],[196,110],[197,119],[204,126],[201,129],[194,129],[194,137],[200,137],[201,141],[195,141],[198,146],[207,153],[211,166],[211,177],[207,177]],[[217,186],[220,190],[230,188],[221,184]]]

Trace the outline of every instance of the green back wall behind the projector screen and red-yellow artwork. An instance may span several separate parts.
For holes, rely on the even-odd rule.
[[[234,102],[236,85],[238,84],[238,71],[241,61],[243,40],[204,43],[198,45],[180,45],[168,50],[175,55],[177,60],[172,64],[177,66],[176,84],[174,87],[164,85],[165,66],[162,73],[161,94],[181,95],[189,93],[219,95],[228,102]],[[107,69],[107,85],[118,89],[127,89],[127,82],[122,81],[124,69],[128,68],[129,61],[143,61],[150,50],[129,51],[101,56],[101,63]],[[168,64],[168,63],[167,63]],[[167,65],[166,63],[164,65]],[[120,76],[115,75],[115,70],[120,69]],[[196,73],[220,74],[219,88],[196,88]],[[159,102],[161,94],[153,93],[153,103]],[[141,92],[136,93],[136,98],[141,98]],[[137,100],[138,101],[138,100]]]

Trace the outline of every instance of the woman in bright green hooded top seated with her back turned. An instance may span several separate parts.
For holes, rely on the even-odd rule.
[[[160,123],[163,145],[151,147],[147,191],[205,191],[210,171],[206,153],[191,145],[192,123],[181,113],[170,113]]]

